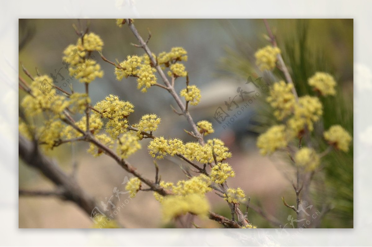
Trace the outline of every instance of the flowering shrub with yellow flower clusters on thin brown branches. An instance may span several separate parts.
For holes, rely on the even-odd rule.
[[[104,43],[99,35],[93,32],[81,32],[77,42],[68,45],[63,51],[62,59],[69,64],[70,75],[84,83],[85,92],[63,91],[64,96],[56,96],[50,101],[40,90],[42,83],[47,83],[44,87],[49,85],[48,90],[53,94],[57,89],[61,89],[54,85],[49,76],[30,75],[31,85],[21,80],[20,87],[25,89],[28,95],[21,103],[26,117],[20,118],[20,133],[36,140],[45,149],[53,149],[63,143],[89,142],[87,152],[94,157],[108,155],[126,171],[134,174],[135,177],[125,186],[131,198],[141,190],[153,191],[154,199],[162,206],[164,222],[179,219],[189,213],[202,218],[208,217],[224,227],[256,228],[248,220],[247,213],[242,213],[239,207],[241,204],[249,203],[244,191],[240,187],[231,188],[227,185],[227,180],[235,176],[233,165],[226,161],[231,158],[231,152],[220,139],[204,139],[208,134],[214,133],[212,123],[206,120],[195,123],[188,111],[189,104],[198,105],[201,101],[201,91],[196,85],[189,85],[188,73],[182,63],[188,59],[187,51],[182,47],[173,47],[170,52],[154,54],[150,51],[147,41],[145,42],[138,34],[132,19],[116,20],[119,27],[125,24],[140,42],[136,46],[143,48],[145,54],[127,56],[120,63],[111,62],[102,55]],[[99,52],[103,61],[113,65],[112,72],[118,81],[135,77],[137,88],[141,92],[147,92],[153,86],[168,91],[179,107],[178,111],[174,111],[185,116],[190,127],[187,133],[195,140],[184,143],[177,138],[157,136],[155,132],[161,127],[161,119],[155,113],[148,113],[143,115],[138,123],[133,122],[131,114],[134,113],[135,106],[125,99],[119,99],[118,96],[110,94],[93,106],[89,97],[89,86],[94,86],[94,80],[102,77],[103,71],[100,64],[90,57],[92,52]],[[273,70],[277,65],[284,70],[285,64],[280,64],[283,61],[280,54],[276,43],[268,45],[255,54],[256,64],[260,70]],[[158,83],[158,79],[163,84]],[[184,88],[179,94],[174,89],[175,80],[180,84],[184,83]],[[280,80],[270,89],[267,102],[274,109],[273,114],[280,123],[261,134],[257,146],[262,155],[290,150],[288,155],[296,164],[297,173],[305,174],[318,169],[322,156],[331,149],[319,153],[310,147],[310,142],[302,142],[304,137],[314,130],[314,124],[321,119],[323,108],[317,96],[298,97],[293,83],[289,81],[292,82],[288,78],[287,82]],[[334,89],[336,82],[326,73],[316,73],[308,83],[318,92],[318,96],[336,93]],[[84,116],[80,120],[75,120],[71,114],[76,113],[84,113]],[[47,117],[43,126],[37,128],[25,124],[28,118],[42,114]],[[154,181],[136,172],[126,159],[142,148],[141,142],[144,138],[151,139],[147,145],[151,157],[163,159],[167,155],[176,156],[190,165],[195,174],[185,171],[188,179],[173,184],[159,178],[156,163]],[[337,125],[324,132],[324,139],[331,148],[347,151],[352,138]],[[298,143],[296,150],[293,149],[294,143]],[[302,148],[305,144],[309,147]],[[294,187],[298,200],[297,206],[293,207],[296,213],[299,213],[300,188],[298,185]],[[206,194],[212,191],[227,203],[231,209],[231,219],[212,212],[206,198]],[[110,227],[119,226],[112,223]]]

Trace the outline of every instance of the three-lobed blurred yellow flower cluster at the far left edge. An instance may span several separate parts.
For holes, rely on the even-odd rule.
[[[30,85],[31,95],[23,98],[21,105],[29,116],[40,114],[42,111],[51,111],[61,114],[69,102],[62,95],[58,95],[53,86],[51,77],[43,75],[36,76]]]

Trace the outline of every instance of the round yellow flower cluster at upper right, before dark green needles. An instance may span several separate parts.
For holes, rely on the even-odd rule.
[[[316,72],[315,75],[309,78],[308,83],[315,91],[320,92],[321,95],[335,95],[336,81],[333,76],[324,72]]]

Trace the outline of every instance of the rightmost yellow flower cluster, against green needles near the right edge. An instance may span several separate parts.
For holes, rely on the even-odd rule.
[[[334,145],[335,148],[341,151],[349,151],[349,145],[352,140],[350,134],[340,125],[331,126],[329,130],[323,133],[324,139]]]

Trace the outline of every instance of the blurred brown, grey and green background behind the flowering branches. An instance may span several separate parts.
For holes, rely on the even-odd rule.
[[[111,61],[122,61],[128,55],[143,51],[130,43],[137,43],[131,31],[115,25],[115,19],[81,19],[80,25],[90,23],[90,31],[103,39],[103,55]],[[323,100],[324,117],[315,127],[314,139],[321,139],[321,133],[333,124],[341,124],[349,133],[353,133],[353,20],[352,19],[307,19],[307,20],[269,20],[283,58],[291,68],[299,95],[312,94],[307,86],[307,78],[316,71],[324,71],[335,76],[338,93],[335,97]],[[41,74],[56,75],[61,72],[65,79],[68,73],[62,64],[62,51],[68,44],[77,40],[72,25],[79,26],[76,19],[19,19],[19,61],[35,75],[35,67]],[[281,78],[273,74],[262,74],[254,66],[253,54],[258,48],[269,44],[262,20],[250,19],[136,19],[135,25],[142,35],[147,37],[148,29],[152,33],[149,47],[153,53],[169,51],[171,47],[181,46],[188,51],[189,60],[185,66],[189,72],[190,83],[201,89],[201,104],[190,107],[195,121],[209,120],[215,133],[208,138],[218,137],[224,140],[232,152],[228,161],[235,170],[236,177],[229,180],[229,186],[241,187],[251,198],[251,205],[278,218],[283,225],[288,223],[288,215],[294,213],[281,201],[295,203],[295,194],[291,185],[294,168],[285,156],[263,157],[256,148],[256,138],[267,126],[275,123],[270,108],[264,101],[267,90],[256,89],[252,83],[245,84],[247,78],[262,76],[257,84],[264,86]],[[161,88],[153,87],[147,93],[136,89],[137,83],[128,78],[118,82],[113,66],[94,54],[105,75],[90,86],[92,104],[102,100],[108,94],[116,94],[121,99],[131,101],[135,112],[129,120],[137,122],[147,113],[155,113],[162,121],[157,136],[178,137],[186,141],[192,139],[183,130],[189,126],[182,116],[173,113],[173,98]],[[62,69],[61,69],[62,68]],[[61,69],[61,70],[60,70]],[[19,70],[23,78],[26,76]],[[75,91],[83,92],[83,85],[73,82]],[[182,79],[176,81],[176,91],[185,87]],[[231,102],[237,95],[237,88],[244,91],[259,92],[260,96],[245,107],[241,114],[227,111],[225,101]],[[65,88],[68,90],[68,87]],[[20,91],[19,101],[25,94]],[[244,107],[237,96],[235,102]],[[234,120],[218,123],[214,119],[215,111],[223,108],[231,113]],[[235,110],[234,104],[232,105]],[[236,117],[232,115],[236,114]],[[80,116],[76,116],[78,119]],[[227,123],[228,122],[228,123]],[[154,177],[154,165],[147,152],[148,140],[142,140],[142,149],[128,160],[147,177]],[[320,145],[321,150],[325,146]],[[73,164],[78,164],[80,185],[97,201],[107,202],[113,195],[113,188],[124,190],[122,182],[128,174],[112,159],[100,156],[93,158],[86,153],[87,145],[76,143],[62,145],[48,155],[58,161],[60,166],[70,172]],[[333,209],[323,218],[320,227],[353,227],[353,148],[348,153],[333,152],[323,162],[325,168],[314,177],[311,187],[314,208],[321,211],[324,202]],[[176,182],[185,179],[179,168],[182,162],[173,157],[158,162],[163,180]],[[38,171],[30,169],[19,161],[20,189],[47,189],[52,184]],[[213,193],[208,195],[213,210],[230,217],[227,204]],[[248,211],[250,221],[260,228],[270,225],[253,210]],[[127,228],[173,227],[161,222],[160,205],[151,192],[141,192],[126,204],[115,218]],[[213,221],[197,222],[200,227],[219,227]],[[63,202],[52,197],[20,197],[19,228],[89,228],[92,221],[73,203]]]

